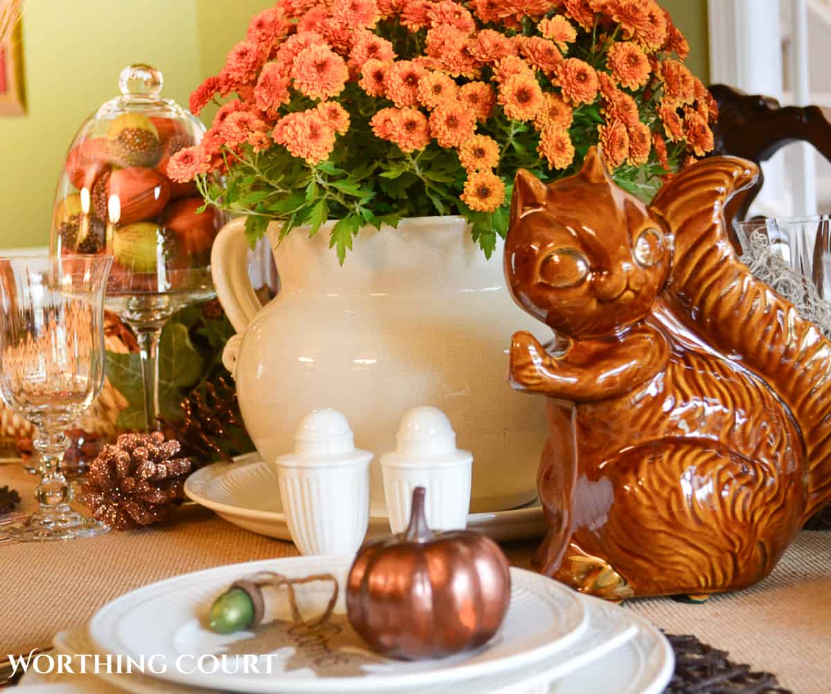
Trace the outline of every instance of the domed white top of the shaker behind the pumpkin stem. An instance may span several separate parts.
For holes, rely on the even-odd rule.
[[[438,407],[414,407],[401,419],[396,450],[381,456],[383,465],[463,465],[473,460],[469,450],[456,448],[456,434]]]

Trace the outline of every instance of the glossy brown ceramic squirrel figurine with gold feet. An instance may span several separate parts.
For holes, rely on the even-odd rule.
[[[506,277],[558,336],[510,350],[512,385],[550,398],[536,561],[583,592],[745,588],[831,500],[831,343],[725,233],[757,175],[703,160],[648,208],[597,150],[551,185],[517,176]]]

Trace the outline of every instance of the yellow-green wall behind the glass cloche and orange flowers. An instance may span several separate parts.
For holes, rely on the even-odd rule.
[[[131,62],[165,74],[164,95],[190,91],[223,66],[249,18],[273,0],[27,0],[23,20],[27,115],[0,117],[0,249],[46,245],[52,198],[78,126],[118,94]],[[661,0],[707,78],[706,0]],[[214,108],[203,113],[209,122]]]

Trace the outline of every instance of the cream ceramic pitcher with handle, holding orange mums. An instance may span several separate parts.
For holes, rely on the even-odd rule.
[[[341,266],[331,228],[278,243],[268,227],[280,291],[266,306],[248,279],[244,219],[214,241],[214,285],[238,333],[223,361],[257,450],[268,461],[292,450],[302,417],[324,407],[348,417],[356,445],[392,450],[401,416],[431,405],[474,454],[471,509],[528,503],[545,407],[511,390],[508,349],[514,332],[539,327],[504,285],[501,239],[486,260],[461,217],[403,219],[361,229]],[[377,460],[371,498],[381,513]]]

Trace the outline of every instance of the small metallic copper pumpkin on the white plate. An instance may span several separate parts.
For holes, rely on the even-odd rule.
[[[352,627],[377,652],[402,660],[450,656],[494,636],[508,611],[508,561],[472,531],[430,532],[424,487],[410,525],[366,544],[347,581]]]

